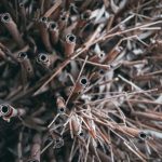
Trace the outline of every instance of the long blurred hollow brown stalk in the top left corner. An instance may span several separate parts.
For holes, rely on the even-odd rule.
[[[6,27],[13,39],[17,42],[19,48],[24,45],[24,41],[22,36],[17,29],[17,25],[13,22],[11,15],[9,13],[4,13],[1,15],[1,22]]]

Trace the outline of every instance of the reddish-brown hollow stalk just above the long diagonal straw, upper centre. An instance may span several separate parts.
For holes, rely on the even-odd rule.
[[[71,56],[75,52],[75,48],[76,48],[76,36],[69,33],[66,36],[65,40],[65,55],[67,57]]]

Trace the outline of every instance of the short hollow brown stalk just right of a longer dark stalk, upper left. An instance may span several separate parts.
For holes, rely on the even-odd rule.
[[[49,30],[50,30],[52,44],[55,45],[58,42],[58,36],[59,36],[57,24],[55,22],[50,22]]]

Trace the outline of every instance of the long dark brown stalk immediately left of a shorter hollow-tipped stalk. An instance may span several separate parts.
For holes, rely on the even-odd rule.
[[[48,24],[48,18],[46,17],[41,17],[39,21],[39,30],[40,30],[40,36],[41,40],[46,49],[48,52],[52,52],[52,45],[50,42],[50,35],[49,35],[49,24]]]

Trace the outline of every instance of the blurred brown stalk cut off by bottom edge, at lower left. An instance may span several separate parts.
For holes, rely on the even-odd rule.
[[[27,162],[40,162],[40,152],[41,152],[41,136],[40,134],[36,134],[32,138],[31,156]]]

